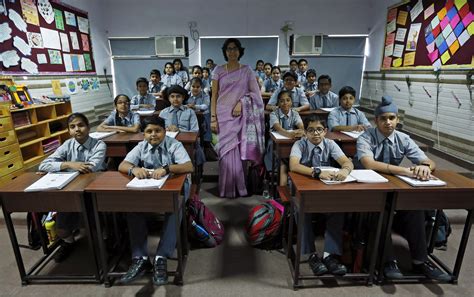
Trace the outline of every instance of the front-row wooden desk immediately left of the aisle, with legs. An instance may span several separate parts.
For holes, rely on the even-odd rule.
[[[99,212],[174,212],[176,216],[176,238],[178,250],[178,267],[174,272],[176,284],[183,283],[184,268],[188,254],[186,216],[184,197],[180,195],[186,175],[168,178],[161,189],[128,189],[131,177],[117,171],[103,172],[85,191],[92,194],[93,212],[96,220]],[[179,219],[181,216],[182,220]],[[96,224],[99,238],[100,261],[104,267],[104,281],[110,286],[110,278],[122,276],[124,272],[114,272],[116,265],[109,265],[105,248],[102,227]],[[109,268],[111,267],[111,268]]]

